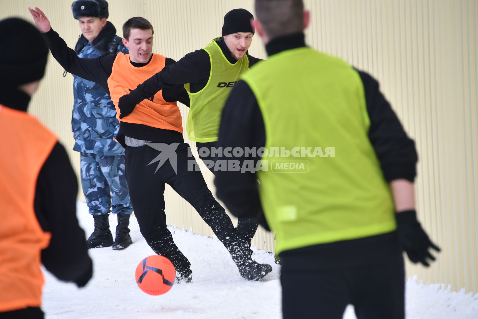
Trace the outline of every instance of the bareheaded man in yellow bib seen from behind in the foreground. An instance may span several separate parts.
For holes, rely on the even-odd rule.
[[[305,45],[302,0],[255,6],[269,59],[233,88],[217,146],[265,147],[267,170],[217,172],[217,196],[276,233],[284,319],[341,319],[348,304],[403,319],[402,249],[424,265],[439,250],[416,219],[414,143],[376,80]]]

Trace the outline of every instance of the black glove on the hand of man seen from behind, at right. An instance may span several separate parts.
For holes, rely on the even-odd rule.
[[[406,210],[395,215],[398,240],[402,249],[407,253],[410,261],[415,264],[420,262],[428,267],[430,264],[427,258],[432,261],[435,260],[435,257],[428,251],[429,248],[433,248],[437,252],[440,252],[440,248],[428,238],[417,220],[415,210]]]

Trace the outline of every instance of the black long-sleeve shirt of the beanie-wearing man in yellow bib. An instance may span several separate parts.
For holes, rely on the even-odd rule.
[[[221,37],[216,41],[228,61],[231,64],[237,63],[238,60],[232,56],[224,38]],[[246,52],[246,55],[249,59],[249,67],[261,61],[261,59],[251,56],[249,52]],[[179,59],[174,65],[164,67],[161,72],[138,85],[130,92],[130,100],[134,104],[138,104],[161,89],[186,83],[190,83],[191,93],[198,92],[206,86],[210,73],[209,54],[203,49],[196,50]]]

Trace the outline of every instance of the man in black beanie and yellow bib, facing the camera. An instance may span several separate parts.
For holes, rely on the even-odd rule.
[[[220,162],[226,155],[223,150],[216,152],[222,107],[240,75],[260,61],[247,51],[254,34],[251,19],[253,15],[245,9],[226,13],[221,37],[213,39],[200,50],[188,53],[174,65],[164,67],[129,95],[121,97],[118,105],[120,118],[127,120],[137,104],[158,90],[184,85],[190,99],[186,124],[189,139],[196,142],[199,156],[213,174],[224,169]],[[250,242],[257,226],[257,222],[250,218],[238,220],[241,245],[250,254]],[[261,267],[261,276],[272,270],[268,264],[257,266]]]

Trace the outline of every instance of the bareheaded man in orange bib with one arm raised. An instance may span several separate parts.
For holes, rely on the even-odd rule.
[[[38,8],[29,10],[37,28],[45,33],[50,50],[61,66],[67,72],[98,83],[114,102],[120,120],[117,140],[125,147],[126,180],[131,204],[141,234],[152,250],[171,260],[178,280],[191,281],[191,264],[166,228],[163,192],[167,183],[212,228],[238,265],[241,275],[249,280],[258,279],[257,276],[247,275],[257,273],[258,264],[250,259],[248,249],[239,244],[237,230],[207,188],[201,172],[188,169],[188,165],[197,163],[188,154],[189,145],[183,139],[181,113],[176,105],[177,100],[189,105],[184,87],[164,88],[136,105],[127,118],[119,117],[118,100],[121,96],[164,66],[175,63],[171,58],[152,54],[154,31],[151,23],[141,17],[133,17],[124,23],[123,44],[130,54],[120,52],[84,59],[79,58],[51,29],[43,11]],[[158,154],[158,151],[161,153]]]

